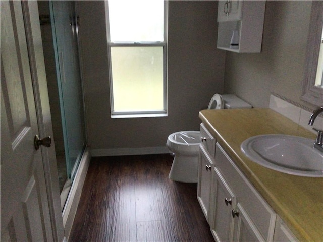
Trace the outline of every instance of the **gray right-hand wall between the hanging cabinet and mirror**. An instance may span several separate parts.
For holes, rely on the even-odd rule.
[[[267,1],[262,51],[227,52],[225,92],[254,107],[268,107],[274,92],[313,108],[300,100],[310,10],[311,1]]]

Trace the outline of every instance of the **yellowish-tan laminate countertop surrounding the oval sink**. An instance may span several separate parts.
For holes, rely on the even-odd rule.
[[[202,110],[199,118],[295,236],[300,241],[322,242],[323,178],[265,168],[240,149],[244,140],[256,135],[315,139],[315,134],[268,108]]]

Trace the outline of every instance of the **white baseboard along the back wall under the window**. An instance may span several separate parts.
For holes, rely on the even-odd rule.
[[[148,155],[170,153],[167,146],[144,148],[91,149],[92,156]]]

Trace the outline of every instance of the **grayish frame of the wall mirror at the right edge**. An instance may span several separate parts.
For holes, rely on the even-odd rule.
[[[314,85],[323,26],[323,1],[312,1],[301,100],[323,106],[323,88]]]

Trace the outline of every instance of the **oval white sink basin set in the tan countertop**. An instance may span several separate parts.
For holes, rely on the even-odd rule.
[[[313,148],[314,140],[290,135],[259,135],[241,144],[252,161],[280,172],[323,177],[323,152]]]

